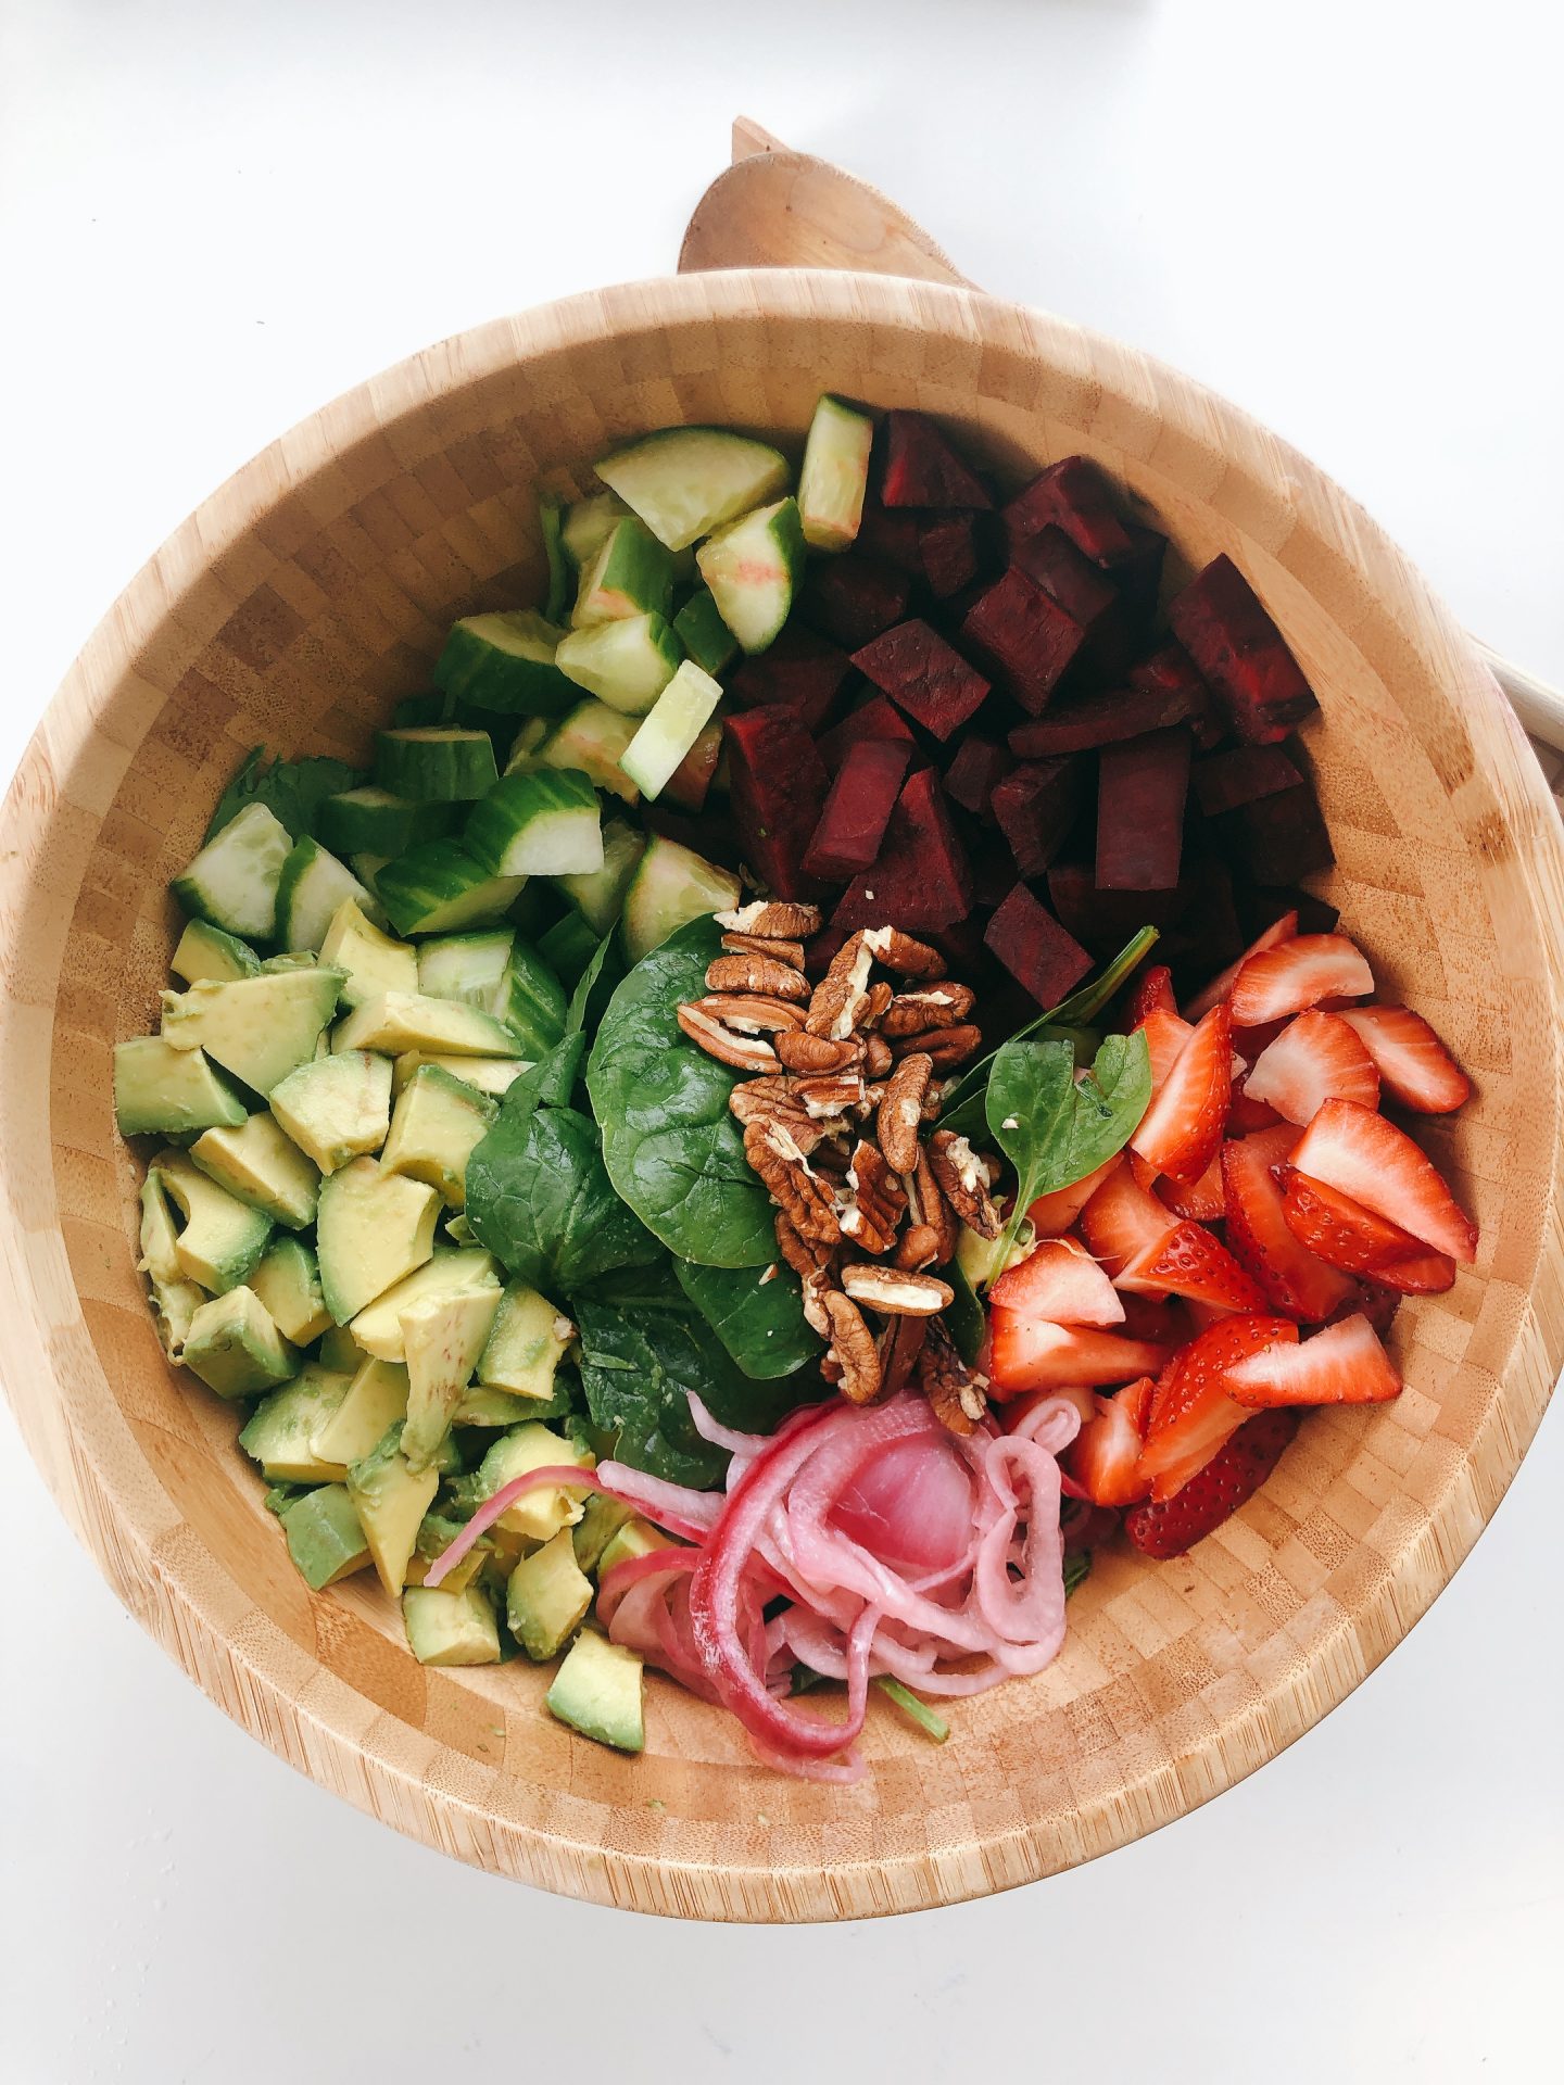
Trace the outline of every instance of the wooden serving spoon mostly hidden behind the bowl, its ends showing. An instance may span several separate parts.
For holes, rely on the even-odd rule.
[[[734,163],[701,196],[680,273],[722,267],[838,267],[978,286],[903,208],[828,158],[795,152],[751,117],[734,119]],[[1564,694],[1472,638],[1564,799]]]

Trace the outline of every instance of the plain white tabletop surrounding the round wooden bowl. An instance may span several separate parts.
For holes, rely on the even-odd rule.
[[[1543,0],[0,0],[0,763],[279,430],[671,267],[738,108],[1251,407],[1560,682],[1562,56]],[[1556,2077],[1562,1493],[1556,1418],[1389,1666],[1157,1837],[953,1912],[701,1931],[296,1779],[121,1614],[0,1414],[0,2077]]]

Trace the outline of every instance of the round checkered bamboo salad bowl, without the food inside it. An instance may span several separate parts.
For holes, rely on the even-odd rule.
[[[425,1670],[359,1576],[311,1595],[238,1416],[163,1359],[136,1272],[111,1047],[167,976],[169,876],[244,751],[363,759],[453,617],[530,603],[536,488],[669,421],[799,438],[822,388],[945,415],[1020,480],[1097,457],[1184,567],[1228,550],[1320,692],[1339,865],[1320,888],[1449,1038],[1476,1099],[1426,1140],[1483,1226],[1408,1303],[1406,1395],[1312,1414],[1176,1564],[1103,1553],[1038,1678],[890,1712],[857,1787],[782,1779],[649,1678],[646,1753],[576,1737],[546,1672]],[[1128,348],[970,290],[686,275],[448,340],[256,457],[152,559],[48,709],[4,805],[0,1370],[125,1605],[229,1716],[361,1810],[482,1868],[688,1918],[807,1920],[1026,1883],[1230,1787],[1343,1699],[1497,1505],[1564,1357],[1564,847],[1451,615],[1374,523],[1243,413]],[[1516,1589],[1520,1591],[1520,1589]],[[92,1645],[81,1647],[92,1655]]]

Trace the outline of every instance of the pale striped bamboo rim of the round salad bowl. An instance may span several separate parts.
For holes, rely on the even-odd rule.
[[[1197,480],[1193,496],[1262,546],[1278,580],[1293,569],[1324,575],[1339,598],[1351,598],[1353,617],[1337,617],[1339,634],[1364,659],[1372,653],[1387,676],[1408,671],[1426,684],[1420,738],[1476,861],[1504,972],[1497,982],[1524,1001],[1529,1032],[1537,1030],[1545,1076],[1529,1134],[1545,1130],[1551,1157],[1504,1282],[1487,1278],[1489,1293],[1504,1286],[1510,1299],[1495,1305],[1487,1328],[1491,1395],[1470,1439],[1428,1482],[1426,1514],[1406,1516],[1387,1568],[1362,1585],[1353,1605],[1316,1614],[1308,1641],[1280,1647],[1266,1683],[1226,1720],[1176,1756],[1047,1814],[968,1833],[947,1829],[899,1851],[876,1849],[855,1814],[840,1849],[772,1858],[753,1833],[717,1854],[680,1851],[676,1837],[657,1843],[644,1816],[624,1831],[586,1835],[542,1826],[526,1806],[517,1812],[498,1801],[505,1776],[496,1768],[427,1733],[411,1743],[392,1718],[365,1714],[319,1655],[309,1660],[256,1612],[184,1524],[156,1462],[131,1443],[117,1409],[63,1230],[50,1057],[83,869],[165,705],[158,659],[179,646],[186,623],[211,619],[213,590],[231,607],[252,584],[246,542],[259,521],[329,475],[355,444],[380,438],[394,446],[400,425],[455,415],[463,394],[532,359],[605,342],[628,348],[665,329],[711,342],[719,327],[740,329],[740,338],[755,327],[759,338],[765,323],[803,321],[867,327],[882,342],[915,336],[947,377],[970,371],[976,382],[988,357],[1038,365],[1070,390],[1101,448],[1143,471]],[[0,811],[0,878],[8,926],[0,949],[0,1193],[8,1216],[0,1266],[13,1305],[0,1372],[44,1478],[125,1605],[250,1735],[400,1831],[551,1889],[697,1918],[872,1916],[1013,1887],[1184,1814],[1335,1708],[1426,1612],[1514,1476],[1564,1359],[1564,844],[1514,715],[1453,617],[1308,459],[1166,365],[999,298],[811,269],[684,275],[496,319],[371,377],[244,465],[119,596],[10,784]]]

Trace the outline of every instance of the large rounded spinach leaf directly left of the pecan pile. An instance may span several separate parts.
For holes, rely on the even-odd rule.
[[[642,1224],[680,1259],[755,1268],[776,1251],[774,1209],[728,1113],[736,1074],[678,1024],[719,947],[717,924],[692,919],[636,963],[603,1015],[586,1090],[609,1180]]]

